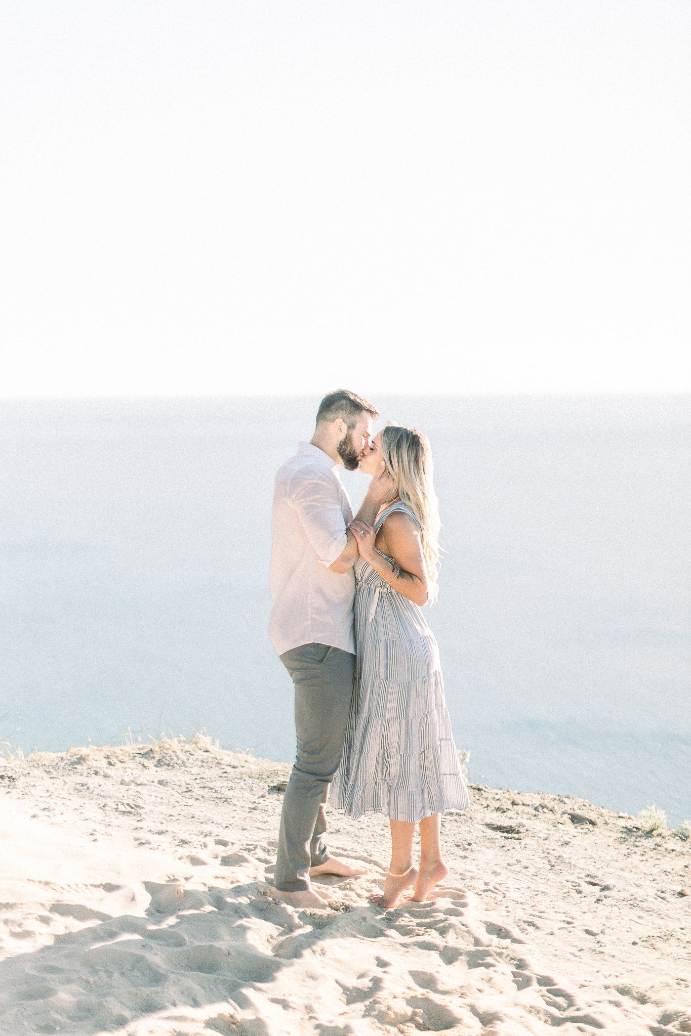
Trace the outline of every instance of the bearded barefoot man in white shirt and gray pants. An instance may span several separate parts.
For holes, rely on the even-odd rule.
[[[352,567],[357,543],[340,466],[354,470],[369,449],[367,400],[342,390],[325,396],[310,442],[279,469],[271,519],[268,633],[295,685],[297,753],[281,813],[277,896],[293,906],[325,906],[310,875],[365,873],[329,857],[324,803],[343,752],[355,669]],[[357,519],[373,524],[391,483],[372,479]]]

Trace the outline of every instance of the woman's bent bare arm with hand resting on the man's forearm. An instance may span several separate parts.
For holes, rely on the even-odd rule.
[[[427,604],[429,599],[429,576],[423,556],[418,524],[401,511],[394,511],[384,518],[381,526],[384,530],[385,552],[396,562],[397,568],[391,562],[378,554],[374,549],[374,529],[367,522],[355,520],[350,531],[357,541],[359,556],[372,566],[384,582],[407,597],[414,604]]]

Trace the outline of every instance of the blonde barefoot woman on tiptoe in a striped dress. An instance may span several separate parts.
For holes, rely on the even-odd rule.
[[[440,814],[464,809],[468,792],[444,703],[436,640],[422,605],[436,598],[439,513],[427,438],[388,425],[359,469],[381,461],[392,489],[374,526],[354,521],[355,695],[332,802],[348,816],[388,814],[392,858],[383,895],[394,906],[406,888],[424,902],[449,868],[439,846]],[[420,870],[412,839],[420,825]]]

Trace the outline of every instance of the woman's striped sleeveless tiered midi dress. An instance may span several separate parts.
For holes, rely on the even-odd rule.
[[[375,533],[393,511],[420,524],[411,509],[397,501],[377,518]],[[355,693],[332,805],[353,818],[386,813],[415,824],[444,809],[464,809],[468,790],[434,634],[420,606],[362,557],[355,579]]]

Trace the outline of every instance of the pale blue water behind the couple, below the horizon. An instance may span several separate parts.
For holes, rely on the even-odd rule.
[[[317,402],[0,406],[0,735],[58,750],[163,716],[291,757],[269,513]],[[691,397],[378,402],[432,440],[429,617],[473,776],[691,816]]]

